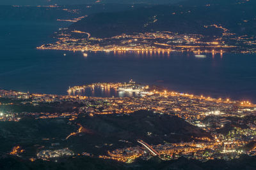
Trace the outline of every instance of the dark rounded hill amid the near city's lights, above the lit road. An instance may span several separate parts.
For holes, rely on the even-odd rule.
[[[120,138],[130,141],[144,139],[148,143],[159,144],[163,141],[188,141],[191,136],[211,138],[198,127],[188,124],[179,117],[160,115],[152,111],[136,111],[130,115],[95,115],[78,120],[104,138]],[[178,136],[178,138],[173,138]]]

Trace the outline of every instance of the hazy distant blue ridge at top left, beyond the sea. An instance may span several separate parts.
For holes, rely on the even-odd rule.
[[[134,5],[138,8],[142,4]],[[87,4],[58,7],[46,6],[4,6],[0,5],[0,20],[57,20],[72,19],[92,15],[93,13],[125,11],[131,8],[128,4]]]

